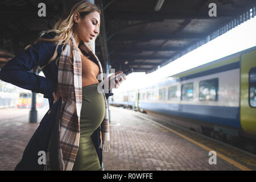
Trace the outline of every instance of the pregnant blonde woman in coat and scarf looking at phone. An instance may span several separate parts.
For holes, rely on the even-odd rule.
[[[44,31],[32,46],[10,60],[0,71],[1,80],[43,93],[52,98],[53,105],[59,104],[61,98],[61,109],[56,113],[60,118],[59,155],[56,157],[59,158],[60,170],[101,169],[99,156],[102,154],[92,140],[94,131],[100,126],[100,147],[103,151],[110,151],[106,102],[109,94],[100,90],[110,90],[110,85],[118,88],[126,77],[121,76],[120,81],[110,80],[110,77],[103,80],[101,63],[88,44],[94,36],[97,38],[99,30],[100,9],[90,2],[79,1],[64,13],[52,30]],[[30,70],[35,65],[40,65],[46,77],[25,73],[24,69]],[[116,72],[115,76],[119,73],[122,72]],[[103,84],[102,88],[100,82],[108,84]],[[28,146],[32,144],[29,142]],[[34,159],[32,155],[35,154],[26,159],[28,153],[24,153],[23,162],[16,169],[31,167],[28,162]],[[51,160],[52,155],[49,155],[48,147],[44,170],[52,168],[49,158]]]

